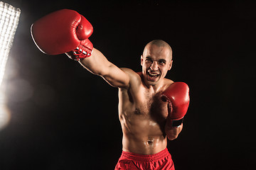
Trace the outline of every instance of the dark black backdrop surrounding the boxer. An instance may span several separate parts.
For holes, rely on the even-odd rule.
[[[4,77],[11,121],[0,131],[0,169],[114,169],[122,152],[117,89],[33,43],[31,24],[62,8],[92,23],[90,40],[118,67],[139,72],[147,42],[171,45],[167,78],[185,81],[191,96],[168,143],[176,169],[255,169],[254,2],[6,2],[21,18]]]

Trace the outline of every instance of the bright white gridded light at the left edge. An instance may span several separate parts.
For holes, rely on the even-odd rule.
[[[20,14],[21,10],[19,8],[0,1],[0,86]],[[10,114],[5,106],[4,91],[0,91],[0,129],[9,122],[9,119]]]

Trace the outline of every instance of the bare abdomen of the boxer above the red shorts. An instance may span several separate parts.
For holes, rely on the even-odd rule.
[[[156,154],[166,148],[161,125],[147,115],[120,115],[123,151],[135,154]]]

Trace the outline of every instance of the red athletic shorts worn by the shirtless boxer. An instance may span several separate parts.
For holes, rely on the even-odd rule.
[[[164,149],[157,154],[134,154],[131,152],[122,152],[114,170],[127,169],[161,169],[174,170],[174,162],[168,149]]]

